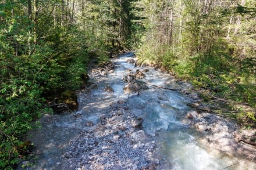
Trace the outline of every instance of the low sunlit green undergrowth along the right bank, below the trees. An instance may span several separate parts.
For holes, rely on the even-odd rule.
[[[176,50],[180,49],[164,46],[148,49],[143,45],[137,52],[138,63],[156,63],[158,67],[165,67],[177,78],[192,82],[205,101],[219,103],[218,106],[223,108],[218,111],[220,114],[245,127],[255,126],[256,77],[253,66],[244,66],[246,61],[236,60],[220,46],[214,46],[209,53],[183,57],[178,56]]]

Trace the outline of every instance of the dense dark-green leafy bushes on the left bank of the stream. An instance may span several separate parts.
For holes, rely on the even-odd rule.
[[[13,28],[0,32],[0,169],[12,169],[22,154],[16,147],[31,122],[51,113],[44,97],[79,88],[89,60],[85,32],[76,27],[51,29],[31,53],[26,31],[14,40],[6,38]],[[13,41],[19,43],[19,53]]]

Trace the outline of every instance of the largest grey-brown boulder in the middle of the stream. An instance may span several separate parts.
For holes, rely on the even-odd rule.
[[[148,89],[148,86],[145,84],[145,82],[131,81],[125,85],[125,87],[123,88],[123,92],[136,93],[136,92],[140,92],[142,90],[147,90],[147,89]]]

